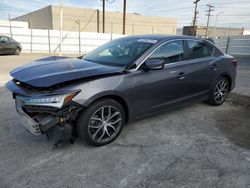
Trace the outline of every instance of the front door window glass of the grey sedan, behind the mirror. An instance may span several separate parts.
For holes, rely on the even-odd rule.
[[[183,41],[178,40],[162,45],[149,56],[149,59],[164,60],[166,64],[183,61],[184,60]]]

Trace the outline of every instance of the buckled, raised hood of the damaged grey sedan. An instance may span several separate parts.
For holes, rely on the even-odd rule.
[[[18,67],[10,72],[10,75],[34,87],[50,87],[71,80],[119,73],[123,70],[124,67],[106,66],[83,59],[51,56]]]

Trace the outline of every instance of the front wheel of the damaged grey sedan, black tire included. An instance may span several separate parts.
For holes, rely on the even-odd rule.
[[[113,116],[112,113],[116,115],[109,119]],[[116,121],[118,122],[114,124]],[[81,139],[91,145],[102,146],[113,142],[121,133],[124,124],[125,113],[121,104],[112,99],[101,99],[79,113],[76,130]]]

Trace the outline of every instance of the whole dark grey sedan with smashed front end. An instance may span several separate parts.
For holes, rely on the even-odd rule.
[[[48,57],[19,67],[6,87],[31,133],[76,133],[100,146],[125,123],[156,112],[192,101],[221,105],[235,86],[236,66],[204,39],[128,36],[81,59]]]

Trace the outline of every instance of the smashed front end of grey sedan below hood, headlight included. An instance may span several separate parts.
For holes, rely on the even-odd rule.
[[[15,80],[9,81],[6,87],[13,93],[16,111],[30,133],[37,136],[46,133],[49,138],[72,135],[77,114],[83,109],[72,99],[80,90],[52,91],[50,88],[26,86]]]

